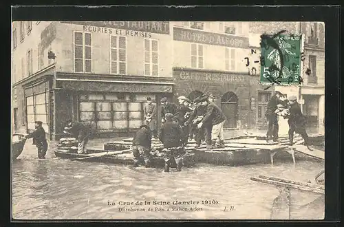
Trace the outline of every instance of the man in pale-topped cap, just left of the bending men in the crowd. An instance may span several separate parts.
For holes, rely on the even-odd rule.
[[[189,98],[186,98],[185,96],[179,96],[178,97],[179,106],[177,109],[177,118],[178,118],[178,124],[180,127],[182,127],[183,135],[184,135],[184,145],[188,143],[189,139],[189,124],[188,124],[188,118],[190,118],[190,114],[192,112],[192,109],[189,107]]]

